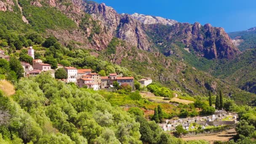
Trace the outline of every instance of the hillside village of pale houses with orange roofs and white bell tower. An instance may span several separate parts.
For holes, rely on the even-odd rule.
[[[9,60],[10,56],[4,54],[5,51],[0,50],[0,59]],[[109,74],[109,76],[101,77],[99,74],[92,72],[91,69],[77,69],[75,67],[64,67],[58,64],[57,69],[52,69],[51,64],[45,64],[41,59],[35,59],[35,51],[32,47],[28,49],[28,55],[34,60],[32,65],[21,61],[21,65],[24,69],[24,77],[34,77],[41,72],[51,72],[51,76],[55,78],[55,72],[57,69],[64,68],[67,72],[67,79],[63,79],[65,83],[75,83],[80,88],[91,88],[94,91],[99,89],[114,88],[113,83],[118,82],[119,85],[130,85],[134,89],[134,77],[123,77],[116,73]],[[142,86],[147,86],[152,83],[151,78],[144,78],[139,80]]]

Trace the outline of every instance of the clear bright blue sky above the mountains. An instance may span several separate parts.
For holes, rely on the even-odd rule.
[[[210,23],[227,32],[256,27],[256,0],[94,0],[118,13],[141,13],[179,22]]]

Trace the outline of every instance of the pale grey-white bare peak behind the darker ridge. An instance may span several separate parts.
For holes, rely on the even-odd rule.
[[[178,21],[172,19],[165,19],[160,16],[149,16],[139,13],[133,13],[131,15],[133,19],[141,21],[143,24],[164,24],[164,25],[173,25],[178,23]]]

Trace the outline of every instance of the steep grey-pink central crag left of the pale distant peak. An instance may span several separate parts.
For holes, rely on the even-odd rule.
[[[128,14],[118,14],[113,8],[105,4],[85,3],[85,11],[90,13],[94,19],[100,21],[105,44],[108,44],[112,37],[125,40],[131,46],[146,51],[150,50],[151,43],[147,37],[140,21],[133,19]]]

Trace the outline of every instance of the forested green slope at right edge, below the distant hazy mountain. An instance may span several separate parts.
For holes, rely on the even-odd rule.
[[[244,51],[243,54],[231,61],[219,61],[212,67],[212,74],[229,83],[235,84],[242,90],[256,93],[256,50]]]

